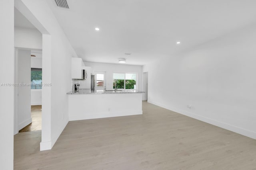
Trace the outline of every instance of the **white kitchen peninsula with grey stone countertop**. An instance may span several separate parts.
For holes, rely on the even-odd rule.
[[[80,89],[68,92],[70,121],[142,114],[142,93],[138,90],[96,92]]]

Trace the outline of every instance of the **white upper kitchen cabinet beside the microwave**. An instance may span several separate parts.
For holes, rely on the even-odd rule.
[[[81,58],[72,57],[71,69],[72,79],[83,79],[83,70],[85,70],[85,65]]]

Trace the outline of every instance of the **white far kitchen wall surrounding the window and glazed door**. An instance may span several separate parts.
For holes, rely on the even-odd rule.
[[[84,62],[85,66],[92,67],[92,74],[95,71],[106,71],[106,90],[113,90],[113,73],[114,72],[134,72],[138,73],[137,86],[142,90],[142,66],[126,64],[108,64]]]

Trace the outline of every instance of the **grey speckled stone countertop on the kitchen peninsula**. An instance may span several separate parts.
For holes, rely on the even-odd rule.
[[[96,92],[94,92],[91,89],[79,89],[78,92],[74,92],[74,91],[70,91],[67,94],[133,94],[133,93],[145,93],[139,90],[134,90],[134,89],[130,89],[130,90],[120,90],[120,91],[106,91],[106,90],[97,90]]]

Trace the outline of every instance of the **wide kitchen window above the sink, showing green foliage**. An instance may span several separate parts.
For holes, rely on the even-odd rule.
[[[113,89],[137,89],[137,73],[114,73],[113,74]]]

